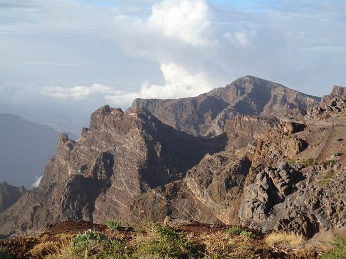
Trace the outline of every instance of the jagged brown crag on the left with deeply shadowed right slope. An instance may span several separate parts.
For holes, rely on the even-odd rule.
[[[1,234],[62,220],[126,223],[140,193],[182,179],[205,154],[221,151],[222,139],[198,139],[144,110],[106,105],[91,115],[80,141],[59,137],[39,187],[0,215]]]

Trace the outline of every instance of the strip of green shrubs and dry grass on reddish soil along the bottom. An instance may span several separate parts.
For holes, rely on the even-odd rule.
[[[145,224],[135,229],[107,220],[105,231],[85,230],[50,236],[42,232],[28,237],[32,247],[23,258],[344,258],[346,239],[332,245],[307,244],[296,233],[261,232],[233,227],[189,228],[182,225]],[[18,248],[17,248],[18,249]],[[0,245],[0,259],[21,258]]]

